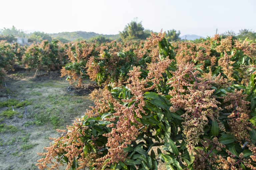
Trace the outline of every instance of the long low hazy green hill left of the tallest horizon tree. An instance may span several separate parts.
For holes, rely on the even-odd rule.
[[[119,34],[116,35],[104,35],[104,34],[97,34],[94,32],[85,32],[85,31],[75,31],[75,32],[61,32],[61,33],[53,33],[49,34],[53,38],[64,38],[69,41],[75,41],[77,39],[84,39],[89,40],[94,37],[102,36],[112,40],[116,40],[119,38]]]

